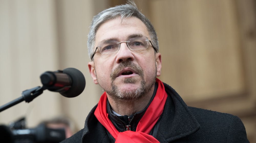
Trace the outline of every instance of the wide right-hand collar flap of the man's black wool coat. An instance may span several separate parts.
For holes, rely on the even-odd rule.
[[[168,98],[157,139],[160,142],[170,142],[195,133],[200,125],[179,94],[169,85],[164,83],[164,86]]]

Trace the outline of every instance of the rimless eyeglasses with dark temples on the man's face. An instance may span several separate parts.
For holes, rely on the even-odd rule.
[[[143,49],[147,49],[149,42],[151,43],[152,47],[154,48],[154,50],[157,52],[156,48],[153,46],[152,42],[150,40],[148,40],[146,37],[134,37],[134,38],[130,38],[126,41],[123,41],[127,44],[128,48],[130,50],[143,50]],[[99,45],[97,46],[94,53],[92,54],[91,59],[93,58],[93,56],[95,55],[97,49],[99,49],[99,52],[101,54],[111,54],[111,53],[115,53],[118,52],[120,49],[120,45],[123,42],[119,42],[116,40],[109,40],[109,41],[103,41],[100,42]]]

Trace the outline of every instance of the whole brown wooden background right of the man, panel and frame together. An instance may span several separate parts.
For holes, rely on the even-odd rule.
[[[158,34],[162,75],[189,106],[237,115],[256,142],[254,0],[139,0]]]

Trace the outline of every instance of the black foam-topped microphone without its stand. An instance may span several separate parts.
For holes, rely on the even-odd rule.
[[[43,87],[59,92],[65,97],[76,97],[85,88],[85,78],[76,68],[66,68],[57,71],[46,71],[40,76]]]

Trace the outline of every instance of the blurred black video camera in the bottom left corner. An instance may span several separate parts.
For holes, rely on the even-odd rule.
[[[25,118],[11,127],[0,125],[0,141],[4,143],[58,143],[66,138],[65,129],[51,129],[41,123],[35,128],[25,128]]]

